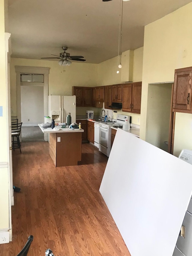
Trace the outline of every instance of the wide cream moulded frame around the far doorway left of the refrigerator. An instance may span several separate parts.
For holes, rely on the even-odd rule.
[[[49,68],[15,66],[16,88],[17,88],[17,118],[21,122],[21,74],[43,74],[44,75],[44,116],[48,116],[49,95]],[[48,134],[44,134],[44,140],[48,141]]]

